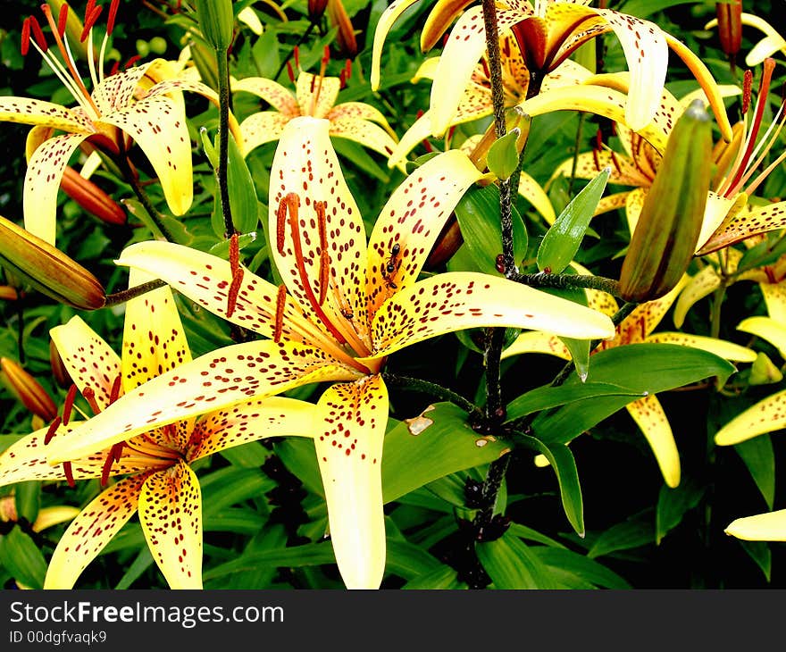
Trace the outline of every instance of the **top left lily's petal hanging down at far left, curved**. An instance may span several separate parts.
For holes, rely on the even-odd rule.
[[[90,134],[66,133],[45,140],[30,157],[24,182],[25,229],[54,245],[57,191],[71,155]]]

